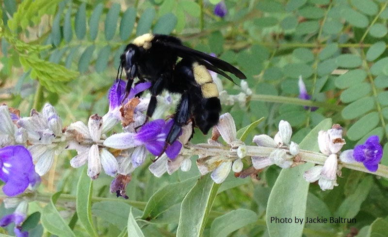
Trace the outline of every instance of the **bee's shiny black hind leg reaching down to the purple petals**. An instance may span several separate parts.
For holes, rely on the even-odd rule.
[[[189,97],[189,93],[186,91],[182,94],[182,97],[180,98],[180,102],[177,107],[177,112],[175,113],[175,116],[174,116],[173,126],[171,127],[170,132],[168,132],[168,135],[164,142],[163,150],[159,156],[161,156],[166,151],[168,145],[173,144],[174,141],[178,139],[182,126],[185,125],[189,120],[190,109],[191,109],[190,97]]]

